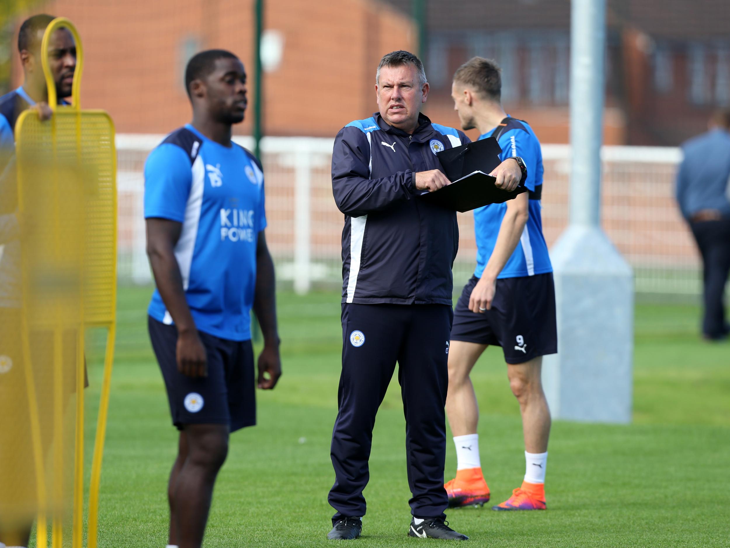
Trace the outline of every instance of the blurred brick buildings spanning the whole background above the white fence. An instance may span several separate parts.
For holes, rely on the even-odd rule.
[[[426,2],[425,111],[434,121],[457,123],[451,75],[480,55],[503,66],[508,112],[542,142],[569,140],[569,0]],[[376,110],[380,56],[416,47],[411,0],[265,4],[264,28],[283,45],[264,77],[266,134],[333,136]],[[164,133],[188,121],[183,72],[196,51],[223,47],[252,67],[253,0],[37,1],[41,11],[76,23],[82,105],[108,110],[119,132]],[[605,142],[677,145],[730,104],[727,0],[608,0],[607,21]],[[12,59],[17,85],[15,47]],[[250,117],[237,131],[250,133]]]

